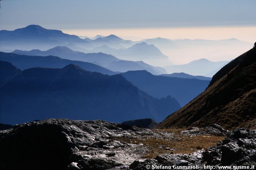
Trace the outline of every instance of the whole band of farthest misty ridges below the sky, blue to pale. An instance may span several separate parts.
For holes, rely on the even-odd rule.
[[[169,40],[154,38],[135,42],[124,40],[113,34],[97,36],[92,39],[82,39],[78,36],[64,34],[60,30],[49,30],[38,25],[30,25],[14,31],[0,31],[0,51],[11,52],[15,49],[26,51],[40,49],[41,51],[46,51],[56,46],[66,46],[74,51],[84,53],[102,52],[114,55],[122,60],[143,61],[150,65],[166,67],[181,61],[186,63],[191,61],[191,58],[207,57],[207,59],[217,59],[219,61],[223,59],[231,60],[234,55],[250,49],[251,43],[242,42],[234,38],[228,40]],[[174,72],[212,77],[221,69],[221,66],[223,65],[218,68],[214,67],[212,70],[204,68],[200,74],[198,71],[193,73],[186,69],[179,69]],[[166,69],[170,69],[167,71],[168,73],[174,73],[172,72],[172,67]]]

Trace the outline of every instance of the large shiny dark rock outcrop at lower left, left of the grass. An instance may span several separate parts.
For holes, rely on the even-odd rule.
[[[128,166],[146,148],[110,137],[140,135],[159,134],[106,121],[46,119],[15,125],[0,131],[0,169],[88,170]]]

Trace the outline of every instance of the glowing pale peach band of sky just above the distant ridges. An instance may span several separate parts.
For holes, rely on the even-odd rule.
[[[121,28],[121,29],[76,29],[62,30],[66,34],[79,37],[94,38],[95,36],[109,36],[114,34],[124,40],[142,41],[144,39],[165,38],[169,40],[228,40],[237,39],[254,43],[256,26],[221,26],[221,27],[180,27],[180,28]],[[209,36],[215,32],[214,36]],[[227,33],[228,32],[228,33]],[[244,34],[240,34],[244,32]],[[186,34],[184,34],[186,33]]]

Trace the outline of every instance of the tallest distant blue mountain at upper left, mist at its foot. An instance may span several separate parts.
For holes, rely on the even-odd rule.
[[[49,49],[57,45],[74,43],[83,47],[93,45],[78,36],[64,34],[60,30],[48,30],[38,25],[30,25],[14,31],[0,31],[0,47],[3,49]]]

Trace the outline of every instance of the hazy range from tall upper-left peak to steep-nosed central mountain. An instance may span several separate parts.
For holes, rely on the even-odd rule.
[[[95,40],[81,39],[78,36],[64,34],[60,30],[48,30],[38,25],[30,25],[14,31],[0,31],[0,50],[5,52],[15,49],[46,50],[64,45],[86,53],[103,52],[112,54],[119,59],[142,60],[157,66],[171,64],[168,57],[154,45],[123,40],[115,35],[99,37]]]

